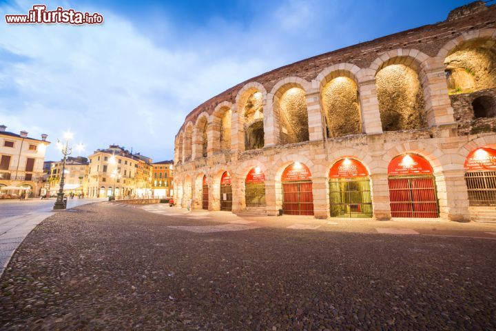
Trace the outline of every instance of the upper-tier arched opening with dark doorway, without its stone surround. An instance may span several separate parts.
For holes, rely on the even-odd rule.
[[[263,148],[263,95],[261,92],[249,94],[243,106],[243,130],[245,132],[245,150]]]

